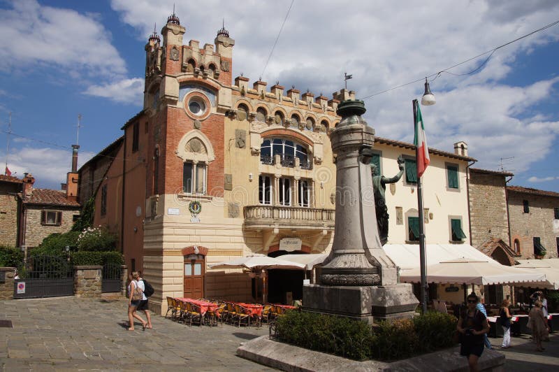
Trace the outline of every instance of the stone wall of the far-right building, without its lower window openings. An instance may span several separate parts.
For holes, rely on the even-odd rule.
[[[559,197],[513,192],[508,189],[511,242],[520,243],[522,259],[534,258],[534,237],[541,239],[546,248],[546,258],[558,257],[556,238],[559,231],[553,230],[553,208],[559,208]],[[524,213],[523,201],[528,201],[529,212]]]

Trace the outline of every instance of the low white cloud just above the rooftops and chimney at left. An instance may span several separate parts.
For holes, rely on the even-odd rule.
[[[78,153],[78,169],[94,156],[94,152]],[[1,154],[5,159],[6,154]],[[35,178],[34,187],[60,189],[66,182],[66,173],[71,171],[72,151],[53,148],[24,147],[10,149],[8,168],[12,176],[23,177],[31,173]]]

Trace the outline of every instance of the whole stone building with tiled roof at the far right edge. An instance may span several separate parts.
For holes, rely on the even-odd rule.
[[[523,259],[559,253],[559,193],[520,186],[507,187],[511,242]]]

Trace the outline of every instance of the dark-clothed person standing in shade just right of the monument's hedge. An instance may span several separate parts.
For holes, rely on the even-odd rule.
[[[456,329],[462,334],[460,355],[467,357],[470,371],[478,371],[477,361],[484,352],[484,334],[489,331],[489,324],[484,313],[477,308],[477,295],[467,296],[467,308],[460,313]]]

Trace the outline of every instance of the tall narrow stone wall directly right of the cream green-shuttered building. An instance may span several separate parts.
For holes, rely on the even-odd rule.
[[[509,244],[504,176],[470,171],[469,187],[472,246],[479,248],[489,238]]]

